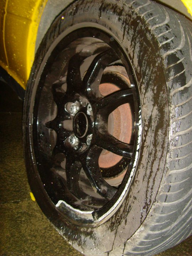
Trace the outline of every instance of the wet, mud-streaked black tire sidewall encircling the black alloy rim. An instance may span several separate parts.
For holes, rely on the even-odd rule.
[[[127,52],[137,80],[142,118],[137,166],[130,189],[117,211],[95,228],[74,225],[54,207],[43,189],[35,160],[31,157],[33,149],[28,146],[31,145],[31,126],[26,125],[30,122],[31,98],[34,97],[48,49],[58,38],[86,24],[110,33]],[[103,4],[99,1],[78,1],[56,18],[43,39],[28,81],[24,104],[23,134],[28,179],[32,192],[48,219],[82,253],[94,255],[97,249],[96,253],[102,255],[121,246],[137,231],[155,203],[166,169],[169,142],[167,94],[164,69],[155,49],[153,36],[131,7],[122,7],[117,1],[105,1]]]

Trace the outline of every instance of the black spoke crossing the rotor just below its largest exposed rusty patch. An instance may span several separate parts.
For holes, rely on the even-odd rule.
[[[102,149],[106,149],[125,158],[131,158],[133,154],[133,145],[119,141],[107,131],[104,133],[97,132],[96,144]]]

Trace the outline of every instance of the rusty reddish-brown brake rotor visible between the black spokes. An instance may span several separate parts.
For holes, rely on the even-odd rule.
[[[123,66],[110,66],[105,70],[105,74],[118,76],[120,79],[126,82],[128,87],[130,87],[130,81]],[[105,82],[100,84],[99,90],[101,95],[105,97],[113,92],[121,90],[121,88],[118,86],[118,84]],[[132,112],[129,103],[119,106],[108,117],[108,132],[121,142],[127,144],[130,143],[132,137],[132,127]],[[98,163],[102,170],[117,165],[122,158],[122,156],[116,155],[107,150],[103,150],[98,159]],[[121,168],[119,168],[119,170],[120,169]],[[110,180],[107,179],[106,181],[110,183],[110,185],[117,185],[117,183],[122,181],[126,171],[127,170],[122,172],[121,170],[119,171],[119,175],[110,178]],[[120,179],[119,176],[121,176]]]

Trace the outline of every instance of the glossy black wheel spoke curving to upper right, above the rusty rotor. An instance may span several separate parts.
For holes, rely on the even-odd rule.
[[[83,79],[83,84],[87,88],[87,94],[89,98],[99,98],[99,85],[102,78],[103,70],[112,62],[118,60],[118,56],[114,53],[113,50],[106,50],[98,54],[95,59],[92,61],[87,73]]]

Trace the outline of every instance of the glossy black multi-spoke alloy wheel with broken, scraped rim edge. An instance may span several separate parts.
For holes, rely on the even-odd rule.
[[[44,189],[60,210],[97,219],[133,175],[139,97],[130,62],[110,35],[81,28],[52,51],[40,84],[31,110]]]

